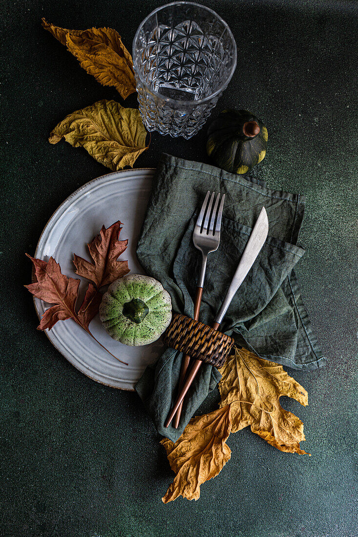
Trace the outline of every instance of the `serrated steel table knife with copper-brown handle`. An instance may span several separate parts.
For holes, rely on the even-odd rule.
[[[248,271],[253,266],[256,257],[259,255],[260,250],[264,245],[264,242],[266,241],[268,229],[269,223],[266,209],[262,207],[260,214],[255,222],[255,226],[250,234],[249,240],[247,241],[247,244],[245,246],[245,250],[242,253],[238,268],[231,281],[230,287],[228,288],[225,299],[221,304],[218,314],[212,324],[212,328],[214,330],[217,330],[219,328],[221,321],[223,321],[223,318],[226,314],[227,308],[230,306],[230,303],[234,297],[234,294],[237,292],[240,285],[245,280]],[[183,401],[185,394],[190,388],[191,383],[194,380],[197,372],[199,371],[199,368],[201,367],[202,363],[202,360],[195,360],[193,365],[191,366],[187,378],[185,379],[184,384],[180,390],[180,394],[175,401],[174,407],[171,409],[171,412],[166,422],[164,423],[164,427],[168,427],[170,425],[171,420],[175,416],[176,411],[180,406],[180,403]]]

